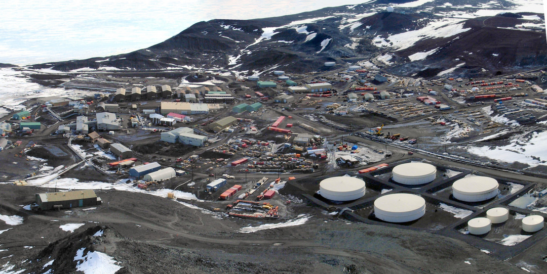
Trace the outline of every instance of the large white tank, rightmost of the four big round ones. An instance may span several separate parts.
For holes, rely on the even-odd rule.
[[[484,201],[498,195],[498,186],[498,181],[494,178],[469,176],[452,184],[452,195],[460,201]]]

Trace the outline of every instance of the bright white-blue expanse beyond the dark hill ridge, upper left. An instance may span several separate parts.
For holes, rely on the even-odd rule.
[[[115,55],[160,43],[199,21],[264,18],[370,1],[2,1],[0,63]]]

